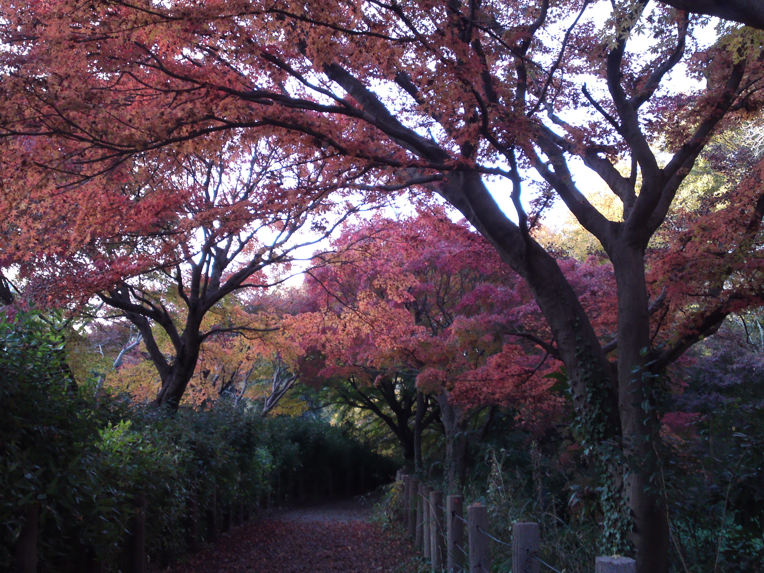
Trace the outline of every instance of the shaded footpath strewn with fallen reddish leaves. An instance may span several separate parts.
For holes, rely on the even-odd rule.
[[[170,573],[416,573],[400,533],[371,523],[371,507],[335,500],[272,510],[237,527]]]

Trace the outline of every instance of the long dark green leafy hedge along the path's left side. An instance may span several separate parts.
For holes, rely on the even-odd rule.
[[[74,384],[63,337],[39,316],[0,322],[0,568],[11,565],[28,503],[40,508],[47,571],[82,571],[92,560],[118,571],[138,492],[147,498],[147,555],[170,562],[188,546],[193,493],[200,533],[209,537],[213,494],[230,513],[274,496],[338,493],[330,474],[347,468],[353,493],[358,476],[371,486],[395,471],[348,429],[317,419],[262,419],[225,402],[167,416],[120,397],[97,400],[91,387]],[[299,476],[318,490],[287,490]]]

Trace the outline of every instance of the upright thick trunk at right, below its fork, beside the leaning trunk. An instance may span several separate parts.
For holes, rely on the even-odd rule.
[[[630,470],[623,475],[633,520],[630,540],[637,573],[668,571],[669,524],[660,497],[648,490],[658,467],[658,420],[652,397],[649,301],[642,248],[619,244],[611,255],[618,286],[618,409],[623,453]]]

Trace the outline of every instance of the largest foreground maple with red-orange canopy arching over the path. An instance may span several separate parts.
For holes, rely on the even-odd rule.
[[[125,157],[241,129],[320,150],[335,170],[358,167],[355,189],[429,185],[526,280],[549,323],[578,438],[592,455],[608,452],[607,496],[628,500],[629,513],[608,514],[607,542],[627,549],[628,532],[638,571],[666,571],[668,523],[649,487],[657,471],[656,380],[717,329],[731,299],[735,306],[754,299],[730,295],[742,267],[704,270],[715,286],[703,291],[693,327],[657,344],[651,309],[673,303],[649,290],[645,251],[711,134],[758,110],[761,42],[758,31],[726,25],[701,46],[694,32],[702,19],[639,0],[613,3],[602,24],[594,16],[600,5],[13,3],[2,32],[11,47],[2,53],[4,133],[17,147],[30,137],[53,144],[32,160],[20,147],[18,160],[5,159],[6,173],[23,179],[15,166],[24,161],[58,167],[66,158],[86,180]],[[693,5],[707,6],[760,24],[744,0]],[[632,41],[643,32],[646,50]],[[680,63],[697,89],[676,92],[665,81]],[[571,157],[623,202],[623,221],[585,199]],[[622,162],[631,166],[625,175],[616,167]],[[537,213],[524,208],[523,168],[547,186],[539,206],[562,199],[613,262],[614,339],[598,337],[575,289],[533,238]],[[508,186],[517,222],[497,206],[488,177]],[[738,261],[756,250],[759,195],[746,184],[727,206],[740,224],[719,228]]]

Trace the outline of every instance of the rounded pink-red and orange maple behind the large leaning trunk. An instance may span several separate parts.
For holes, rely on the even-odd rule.
[[[410,464],[422,468],[422,430],[437,421],[458,489],[468,442],[485,437],[497,410],[526,428],[550,426],[560,404],[543,375],[556,351],[533,296],[484,238],[435,208],[375,217],[332,244],[306,280],[318,308],[289,328],[321,351],[319,375],[340,401],[382,419]],[[607,269],[587,270],[607,281]],[[581,294],[592,285],[582,280]]]

